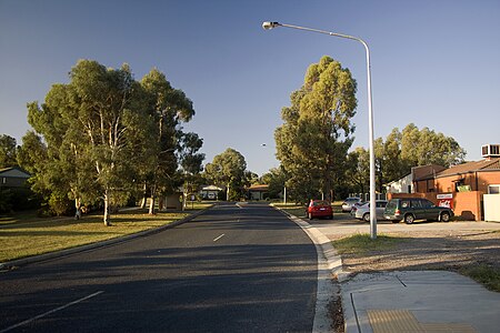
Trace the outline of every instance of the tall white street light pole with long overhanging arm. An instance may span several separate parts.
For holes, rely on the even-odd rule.
[[[371,65],[370,65],[370,49],[366,41],[360,38],[342,34],[326,30],[311,29],[306,27],[292,26],[292,24],[283,24],[279,22],[263,22],[262,28],[264,30],[270,30],[277,27],[284,27],[298,30],[304,30],[310,32],[318,32],[328,36],[334,36],[340,38],[347,38],[351,40],[359,41],[363,44],[364,50],[367,51],[367,77],[368,77],[368,132],[369,132],[369,150],[370,150],[370,238],[372,240],[377,239],[377,213],[376,213],[376,173],[374,173],[374,133],[373,133],[373,110],[371,105]]]

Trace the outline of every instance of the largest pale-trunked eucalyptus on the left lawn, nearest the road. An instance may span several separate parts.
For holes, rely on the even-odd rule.
[[[102,199],[106,225],[110,205],[130,190],[142,147],[151,144],[152,122],[142,99],[127,64],[111,69],[80,60],[70,83],[52,85],[42,105],[28,104],[28,121],[47,143],[46,171],[54,181],[46,185],[51,191],[68,186],[77,206]]]

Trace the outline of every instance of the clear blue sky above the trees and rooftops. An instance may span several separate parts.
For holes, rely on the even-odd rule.
[[[371,49],[376,137],[413,122],[453,137],[480,160],[500,143],[500,1],[69,1],[0,0],[0,134],[21,143],[26,103],[68,82],[79,59],[140,80],[166,73],[193,101],[184,129],[211,162],[228,147],[248,169],[278,167],[280,110],[309,64],[328,54],[358,81],[354,147],[368,148],[364,50],[360,43],[262,21],[358,36]],[[267,143],[267,147],[261,147]]]

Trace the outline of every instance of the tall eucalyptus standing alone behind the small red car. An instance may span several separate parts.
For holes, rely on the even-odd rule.
[[[323,57],[309,67],[303,85],[283,108],[283,124],[274,132],[277,158],[288,175],[287,189],[296,200],[332,189],[343,176],[352,144],[357,83],[340,62]]]

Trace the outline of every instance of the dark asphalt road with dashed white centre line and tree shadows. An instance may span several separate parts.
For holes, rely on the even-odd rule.
[[[267,205],[0,273],[0,332],[310,332],[317,254]]]

